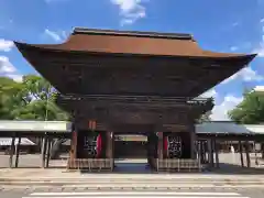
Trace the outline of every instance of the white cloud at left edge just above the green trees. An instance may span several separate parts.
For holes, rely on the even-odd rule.
[[[18,73],[16,68],[10,63],[7,56],[0,56],[0,76],[7,76],[16,81],[22,80],[22,75]]]

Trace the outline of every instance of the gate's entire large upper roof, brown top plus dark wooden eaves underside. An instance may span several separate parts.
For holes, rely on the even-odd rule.
[[[255,57],[204,51],[174,33],[77,28],[62,44],[14,43],[59,92],[78,95],[194,98]]]

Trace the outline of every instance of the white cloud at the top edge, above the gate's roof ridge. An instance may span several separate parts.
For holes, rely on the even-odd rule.
[[[145,18],[145,7],[142,4],[144,0],[111,0],[119,7],[122,16],[121,25],[132,24],[136,20]]]

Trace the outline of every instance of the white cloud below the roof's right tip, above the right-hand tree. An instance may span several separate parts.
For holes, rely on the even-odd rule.
[[[258,75],[251,67],[245,67],[245,68],[241,69],[239,73],[235,73],[231,77],[223,80],[222,84],[230,82],[231,80],[234,80],[238,78],[241,78],[243,81],[262,81],[262,80],[264,80],[264,77]]]

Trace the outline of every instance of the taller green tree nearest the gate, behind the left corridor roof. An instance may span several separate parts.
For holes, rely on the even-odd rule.
[[[23,77],[21,95],[24,103],[14,110],[16,120],[68,120],[68,113],[55,105],[56,91],[44,78],[35,75]]]

